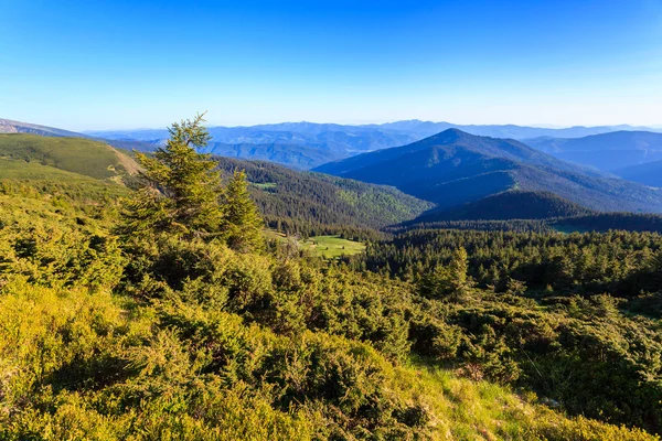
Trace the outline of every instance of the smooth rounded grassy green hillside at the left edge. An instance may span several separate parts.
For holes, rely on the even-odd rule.
[[[95,179],[114,178],[137,170],[135,161],[125,153],[82,138],[0,135],[0,158],[49,165]]]

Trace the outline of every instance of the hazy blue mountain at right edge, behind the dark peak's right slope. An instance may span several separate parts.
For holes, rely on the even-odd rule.
[[[542,137],[523,142],[556,158],[605,171],[662,160],[662,133],[651,131],[621,130],[575,139]]]

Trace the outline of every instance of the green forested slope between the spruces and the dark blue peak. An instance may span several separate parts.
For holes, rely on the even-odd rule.
[[[218,158],[224,174],[245,170],[252,193],[267,220],[310,225],[382,228],[413,219],[431,204],[393,187],[297,172],[263,161]]]

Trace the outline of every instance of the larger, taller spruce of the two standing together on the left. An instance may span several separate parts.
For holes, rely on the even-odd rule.
[[[223,227],[223,187],[216,162],[196,148],[211,139],[203,115],[175,122],[166,147],[137,154],[141,189],[125,213],[125,235],[171,233],[213,238]]]

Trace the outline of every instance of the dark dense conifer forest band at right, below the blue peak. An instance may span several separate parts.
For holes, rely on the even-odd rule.
[[[448,263],[455,249],[469,254],[469,275],[480,288],[504,289],[516,279],[530,289],[637,295],[656,289],[654,273],[662,236],[653,233],[516,233],[414,230],[371,243],[348,258],[354,268],[417,280]]]

